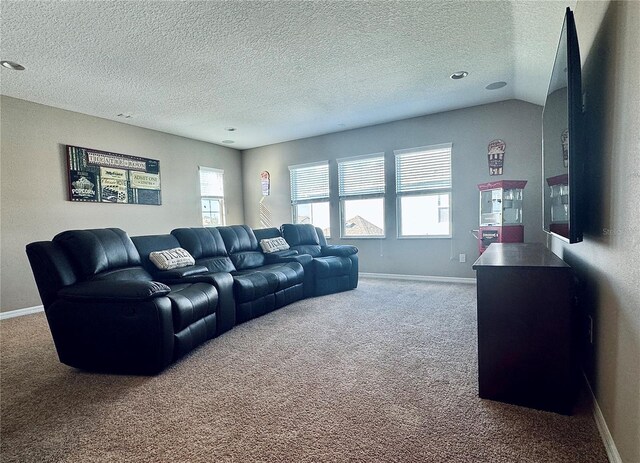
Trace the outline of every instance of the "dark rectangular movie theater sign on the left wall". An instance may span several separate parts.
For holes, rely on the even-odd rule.
[[[162,204],[160,161],[67,145],[69,200]]]

